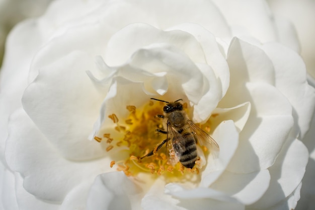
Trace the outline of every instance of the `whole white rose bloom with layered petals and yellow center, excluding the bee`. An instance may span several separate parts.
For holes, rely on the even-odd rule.
[[[295,208],[315,92],[264,1],[56,1],[7,46],[4,209]],[[166,138],[150,98],[183,99],[216,156],[139,160]]]

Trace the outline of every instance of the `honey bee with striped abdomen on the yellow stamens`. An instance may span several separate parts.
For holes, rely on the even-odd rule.
[[[154,155],[164,144],[167,144],[167,158],[170,164],[181,162],[186,168],[193,168],[197,160],[197,143],[208,144],[215,150],[219,149],[218,144],[208,133],[189,120],[183,105],[179,102],[182,99],[175,102],[151,99],[167,103],[163,107],[164,115],[157,115],[166,120],[167,131],[156,129],[157,132],[167,134],[167,138],[142,158]]]

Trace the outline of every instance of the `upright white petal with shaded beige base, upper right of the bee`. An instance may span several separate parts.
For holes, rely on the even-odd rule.
[[[274,85],[273,64],[266,53],[257,46],[234,38],[229,46],[227,62],[230,68],[230,84],[218,107],[232,107],[249,101],[246,83]]]

